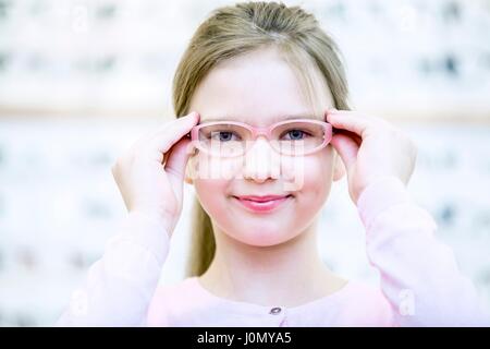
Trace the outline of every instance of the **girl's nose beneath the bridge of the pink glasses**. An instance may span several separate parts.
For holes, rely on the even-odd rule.
[[[262,183],[268,179],[278,179],[280,172],[279,154],[271,147],[265,136],[259,136],[250,144],[244,157],[244,179]]]

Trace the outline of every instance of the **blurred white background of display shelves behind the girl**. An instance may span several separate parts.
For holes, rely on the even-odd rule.
[[[230,1],[0,0],[0,326],[51,326],[125,216],[111,166],[173,118],[171,81],[197,25]],[[343,51],[352,105],[403,128],[408,189],[490,298],[490,0],[285,1]],[[364,228],[336,184],[319,249],[376,285]],[[183,277],[193,188],[162,269]]]

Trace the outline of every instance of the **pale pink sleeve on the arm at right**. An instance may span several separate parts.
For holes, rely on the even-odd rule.
[[[436,221],[400,179],[371,183],[357,209],[394,326],[490,326],[487,301],[460,272],[451,248],[436,238]]]

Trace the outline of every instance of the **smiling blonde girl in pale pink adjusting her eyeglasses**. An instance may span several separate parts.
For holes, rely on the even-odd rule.
[[[274,2],[216,10],[174,76],[181,117],[113,166],[128,216],[58,325],[488,325],[406,190],[414,143],[346,99],[338,49],[311,14]],[[343,176],[380,288],[318,254],[319,213]],[[187,277],[158,286],[184,180],[197,194]]]

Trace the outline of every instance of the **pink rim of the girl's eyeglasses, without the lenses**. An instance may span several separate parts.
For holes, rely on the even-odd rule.
[[[328,122],[324,121],[320,121],[320,120],[313,120],[313,119],[291,119],[291,120],[285,120],[285,121],[280,121],[280,122],[275,122],[267,128],[256,128],[253,127],[248,123],[244,123],[244,122],[237,122],[237,121],[215,121],[215,122],[206,122],[206,123],[201,123],[201,124],[197,124],[195,127],[192,128],[191,130],[191,139],[193,141],[193,143],[195,144],[195,146],[200,149],[204,153],[207,153],[206,149],[201,148],[199,146],[199,129],[204,128],[204,127],[209,127],[209,125],[216,125],[216,124],[234,124],[234,125],[238,125],[238,127],[243,127],[247,130],[249,130],[252,132],[252,139],[254,141],[257,140],[257,137],[259,135],[265,135],[267,137],[267,140],[270,142],[272,141],[272,131],[280,125],[283,124],[287,124],[287,123],[295,123],[295,122],[308,122],[308,123],[316,123],[319,124],[321,127],[323,127],[324,130],[324,136],[323,136],[323,143],[321,143],[319,146],[313,148],[311,151],[305,152],[302,155],[308,155],[308,154],[313,154],[316,153],[320,149],[322,149],[323,147],[326,147],[330,141],[332,140],[332,125]],[[278,149],[275,149],[273,146],[272,148],[280,153]],[[245,149],[245,153],[248,152],[249,147]],[[244,154],[245,154],[244,153]]]

